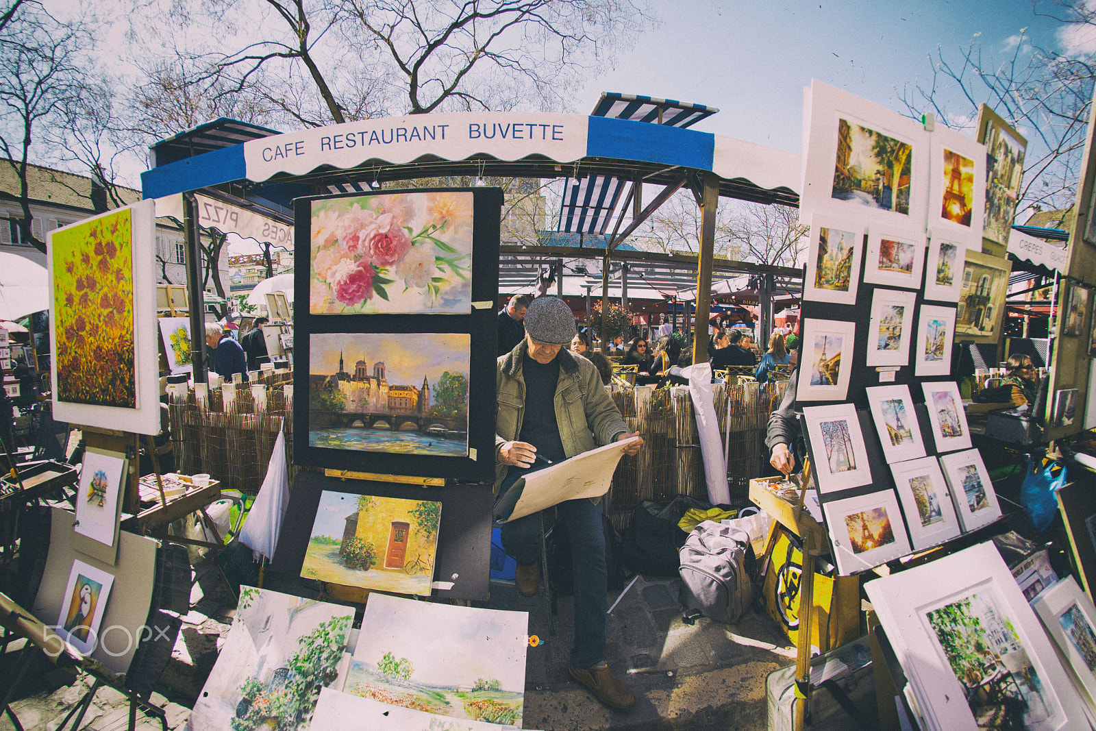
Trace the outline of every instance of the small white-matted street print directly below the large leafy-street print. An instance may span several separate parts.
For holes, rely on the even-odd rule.
[[[855,305],[864,256],[864,227],[825,216],[811,217],[803,299]]]

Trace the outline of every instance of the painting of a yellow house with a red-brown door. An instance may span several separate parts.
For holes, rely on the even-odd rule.
[[[430,596],[442,503],[324,490],[300,575]]]

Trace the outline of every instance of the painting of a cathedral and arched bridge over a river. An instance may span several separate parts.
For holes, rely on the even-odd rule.
[[[470,335],[323,333],[309,347],[310,446],[468,454]]]

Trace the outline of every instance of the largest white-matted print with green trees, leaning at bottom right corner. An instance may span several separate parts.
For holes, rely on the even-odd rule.
[[[1084,728],[1081,698],[992,542],[865,590],[932,728],[975,731],[975,711],[1003,711],[1006,693],[1027,703],[1027,731]]]

